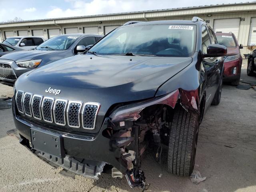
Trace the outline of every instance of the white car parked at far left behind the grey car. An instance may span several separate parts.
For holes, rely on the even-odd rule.
[[[16,36],[6,38],[3,43],[22,48],[24,50],[31,50],[44,41],[45,39],[40,36]]]

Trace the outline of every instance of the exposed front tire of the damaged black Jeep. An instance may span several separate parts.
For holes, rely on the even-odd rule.
[[[178,106],[170,130],[168,171],[178,176],[190,176],[194,169],[199,117],[196,112]]]

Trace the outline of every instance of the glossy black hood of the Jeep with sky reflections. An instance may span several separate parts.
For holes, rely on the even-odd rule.
[[[23,74],[15,86],[43,96],[99,102],[106,112],[115,103],[153,97],[191,62],[190,57],[78,55]],[[49,87],[60,93],[46,92]]]

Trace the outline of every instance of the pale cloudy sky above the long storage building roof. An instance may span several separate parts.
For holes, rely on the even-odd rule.
[[[0,22],[228,4],[248,0],[0,0]]]

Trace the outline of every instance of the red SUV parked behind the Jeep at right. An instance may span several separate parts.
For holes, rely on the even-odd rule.
[[[242,67],[242,56],[240,49],[242,44],[238,45],[236,36],[233,33],[215,33],[218,44],[226,46],[228,53],[224,59],[223,81],[231,82],[232,85],[238,85]]]

